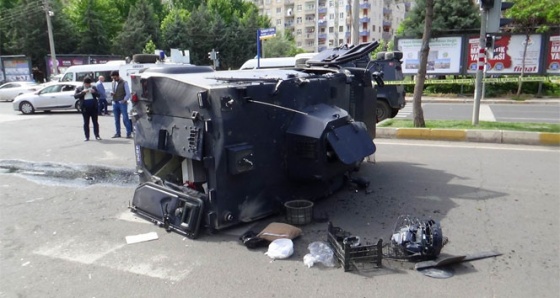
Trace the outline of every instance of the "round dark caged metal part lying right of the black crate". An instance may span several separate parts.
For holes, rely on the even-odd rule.
[[[410,260],[434,259],[441,252],[443,244],[443,233],[438,222],[401,215],[395,223],[388,256]]]

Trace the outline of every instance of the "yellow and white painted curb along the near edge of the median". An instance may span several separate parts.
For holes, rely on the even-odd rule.
[[[376,138],[560,146],[560,133],[377,127]]]

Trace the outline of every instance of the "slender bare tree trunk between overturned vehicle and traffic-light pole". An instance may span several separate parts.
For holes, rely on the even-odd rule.
[[[422,93],[424,91],[424,80],[426,79],[426,66],[428,54],[430,53],[430,38],[432,33],[432,20],[434,17],[434,0],[426,0],[426,14],[424,20],[424,35],[422,36],[422,48],[420,49],[420,66],[414,85],[414,96],[412,102],[412,114],[414,127],[426,127],[424,122],[424,111],[422,110]]]

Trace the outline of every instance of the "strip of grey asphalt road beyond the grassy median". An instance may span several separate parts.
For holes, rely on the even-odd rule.
[[[472,103],[424,103],[426,120],[471,120]],[[412,119],[412,103],[402,109],[397,119]],[[480,121],[560,123],[558,104],[482,104]]]

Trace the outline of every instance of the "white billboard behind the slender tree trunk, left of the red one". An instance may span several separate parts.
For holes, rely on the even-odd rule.
[[[403,52],[403,74],[414,75],[420,66],[421,39],[398,39],[397,48]],[[461,72],[461,37],[430,39],[427,74],[459,74]]]

